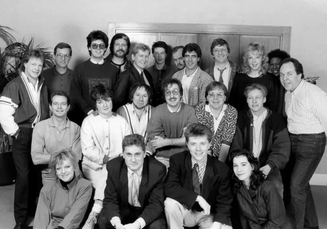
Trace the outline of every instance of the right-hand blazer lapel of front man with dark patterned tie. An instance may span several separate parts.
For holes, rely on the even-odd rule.
[[[216,183],[216,180],[218,179],[218,175],[215,174],[214,171],[214,159],[213,157],[207,155],[207,162],[206,167],[203,175],[203,181],[202,181],[202,188],[201,188],[201,196],[206,199],[214,184]]]

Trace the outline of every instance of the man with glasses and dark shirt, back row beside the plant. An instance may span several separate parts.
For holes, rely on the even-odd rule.
[[[73,71],[68,68],[73,53],[71,45],[60,42],[53,53],[56,65],[42,72],[42,77],[48,87],[49,98],[55,91],[64,91],[69,95],[73,80]]]

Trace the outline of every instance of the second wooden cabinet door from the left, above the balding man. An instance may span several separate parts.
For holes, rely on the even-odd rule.
[[[183,45],[188,43],[198,44],[199,35],[198,34],[188,34],[188,33],[158,33],[158,41],[165,41],[168,45],[168,55],[166,58],[166,64],[175,67],[172,58],[172,49],[175,46]],[[176,68],[177,69],[177,68]]]

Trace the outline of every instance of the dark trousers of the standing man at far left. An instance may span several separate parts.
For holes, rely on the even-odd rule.
[[[26,222],[29,213],[36,208],[38,181],[36,166],[31,157],[32,128],[19,128],[17,139],[13,139],[12,155],[16,168],[14,216],[16,223]]]

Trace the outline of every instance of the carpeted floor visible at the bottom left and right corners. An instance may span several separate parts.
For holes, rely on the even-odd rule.
[[[0,187],[0,229],[11,229],[15,226],[14,219],[15,185]],[[327,229],[327,186],[311,186],[319,218],[320,229]],[[32,228],[33,218],[29,219]]]

